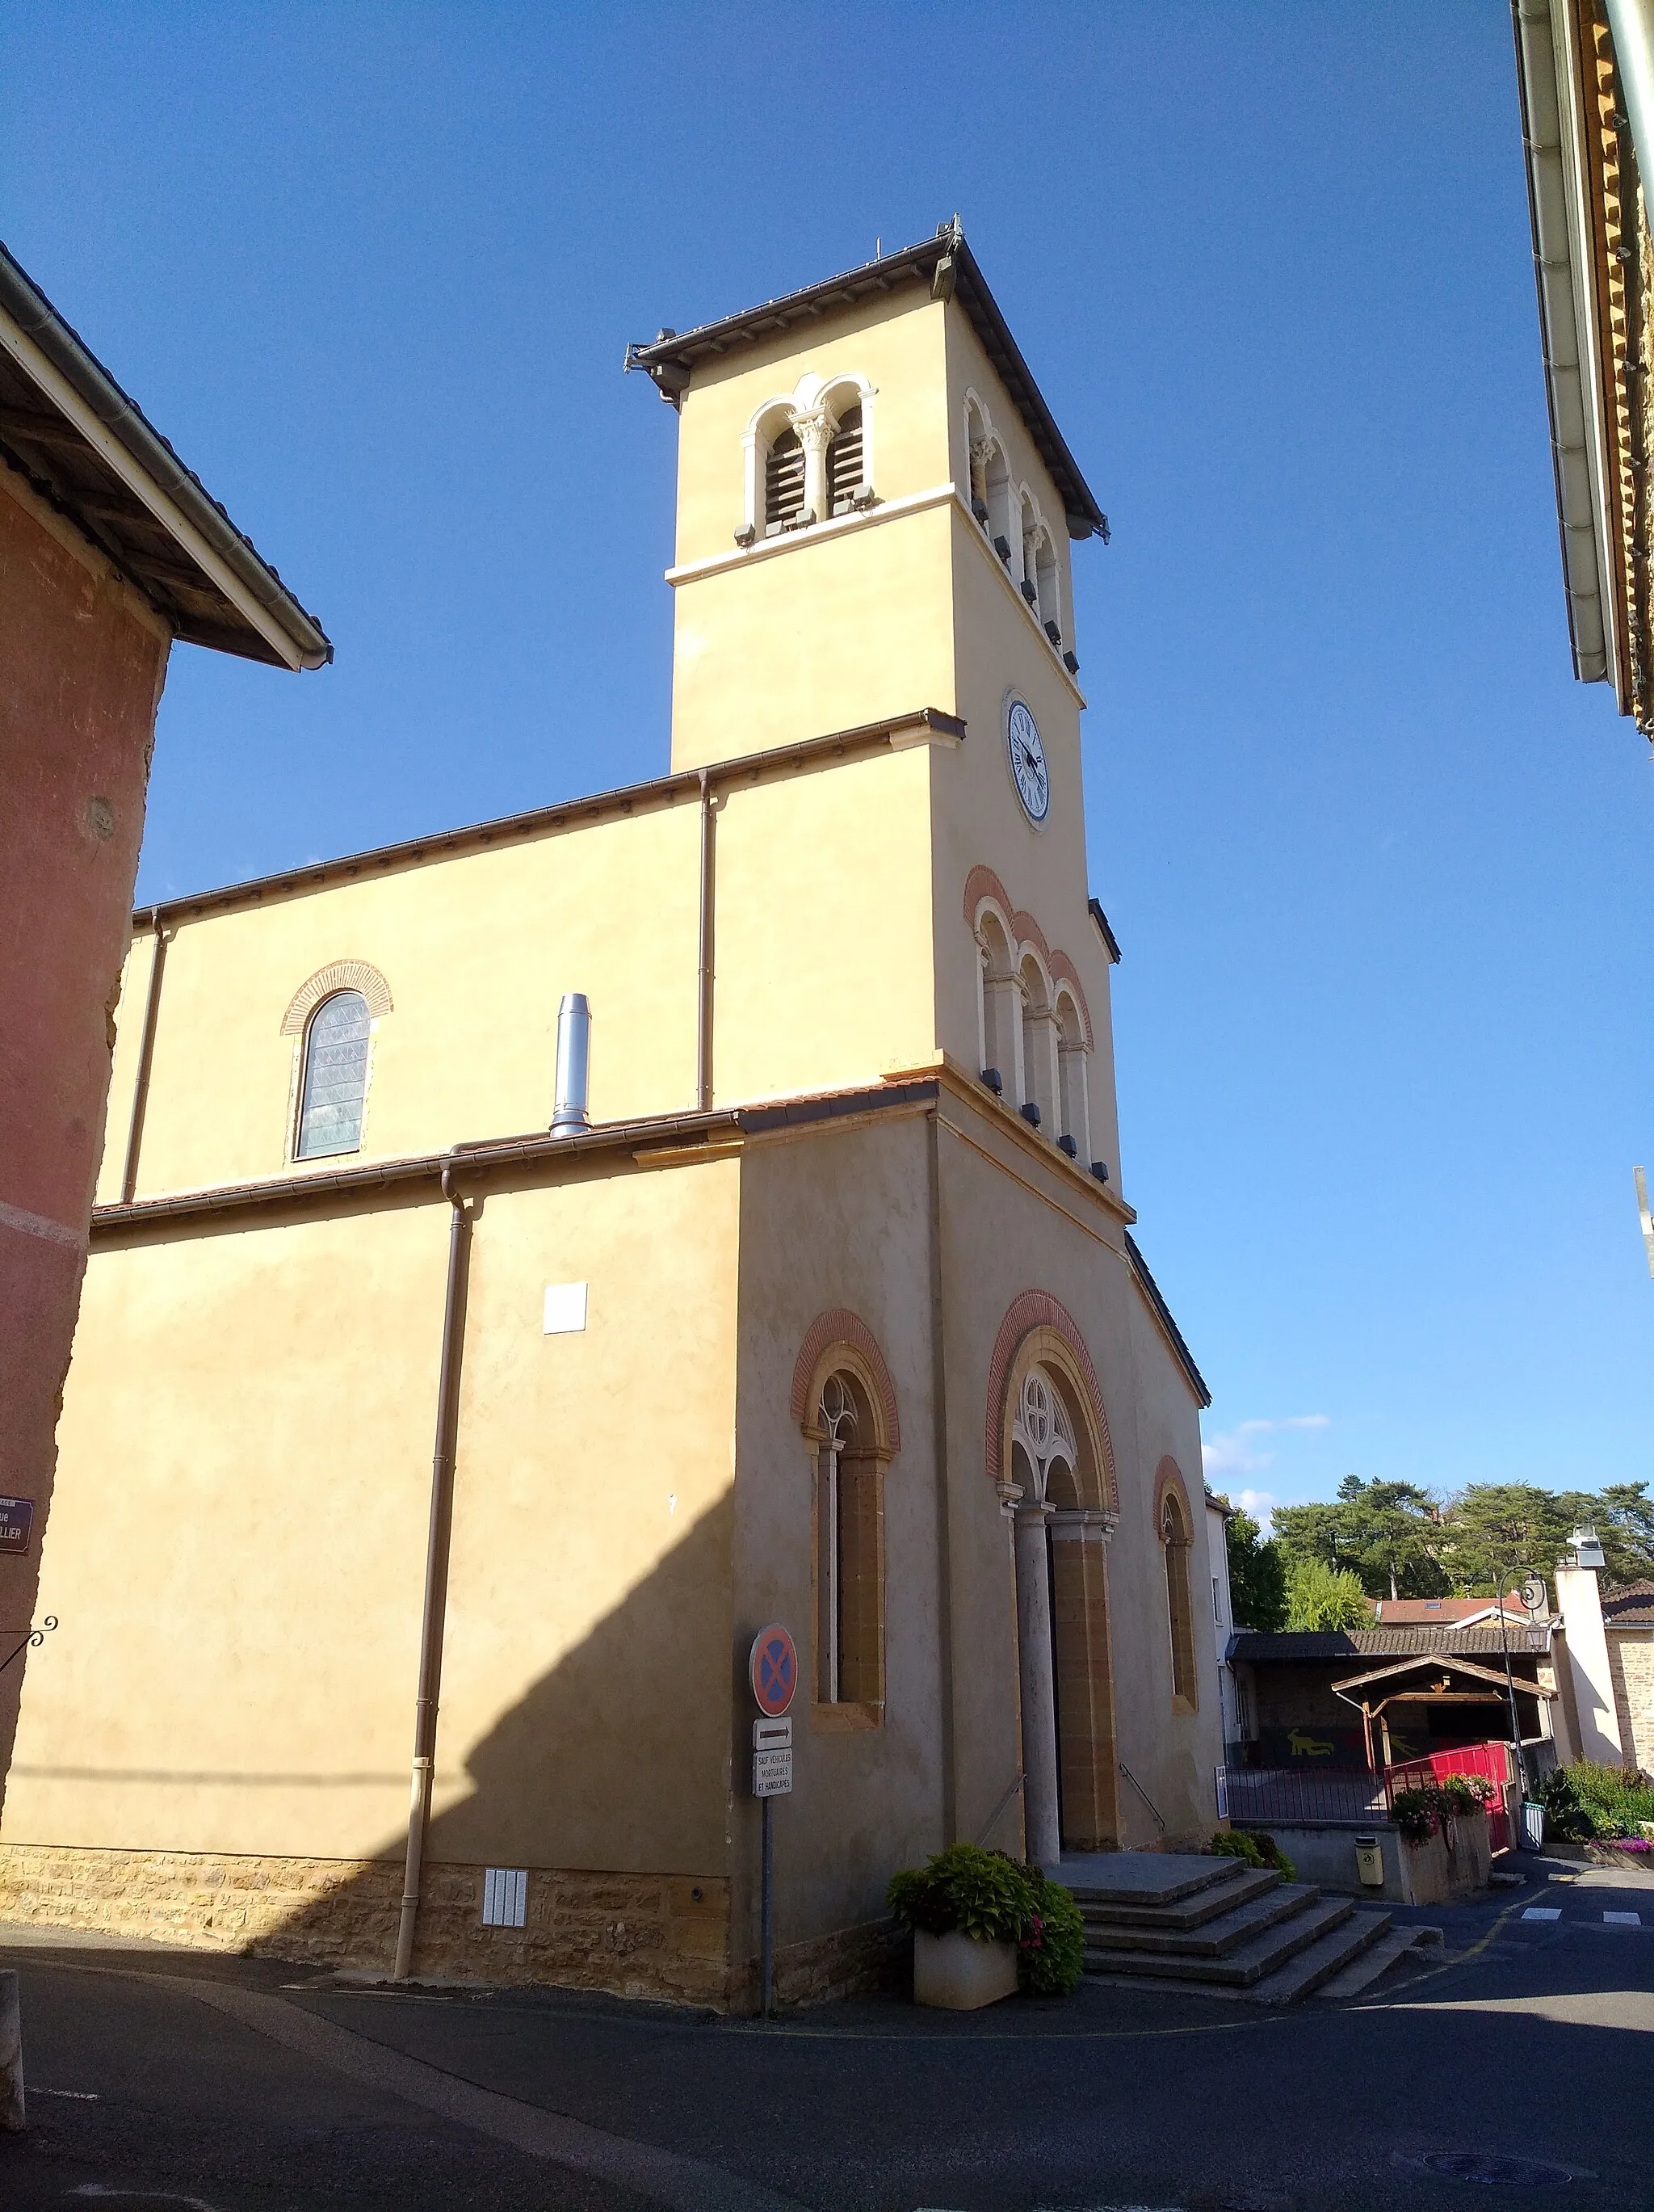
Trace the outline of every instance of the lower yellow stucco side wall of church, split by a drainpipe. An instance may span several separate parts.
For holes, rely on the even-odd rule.
[[[723,1159],[480,1208],[436,1858],[723,1860],[736,1206]],[[427,1186],[95,1256],[7,1843],[400,1849],[447,1223]]]

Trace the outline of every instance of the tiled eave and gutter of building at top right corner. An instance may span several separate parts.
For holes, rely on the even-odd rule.
[[[1654,737],[1654,0],[1515,0],[1574,675]]]

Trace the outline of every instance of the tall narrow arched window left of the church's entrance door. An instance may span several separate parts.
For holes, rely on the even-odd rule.
[[[847,1369],[816,1405],[816,1703],[884,1701],[884,1484],[873,1411]]]

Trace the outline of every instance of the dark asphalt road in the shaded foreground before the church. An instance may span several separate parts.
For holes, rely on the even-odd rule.
[[[1413,1916],[1448,1940],[1411,1978],[1285,2015],[1086,1989],[761,2026],[0,1931],[31,2095],[0,2205],[1654,2208],[1654,1876],[1537,1876]]]

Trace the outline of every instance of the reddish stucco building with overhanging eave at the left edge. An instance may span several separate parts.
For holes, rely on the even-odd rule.
[[[0,633],[4,1796],[97,1159],[119,1186],[135,1135],[117,1117],[106,1141],[104,1108],[168,653],[181,637],[276,668],[332,657],[4,248]]]

